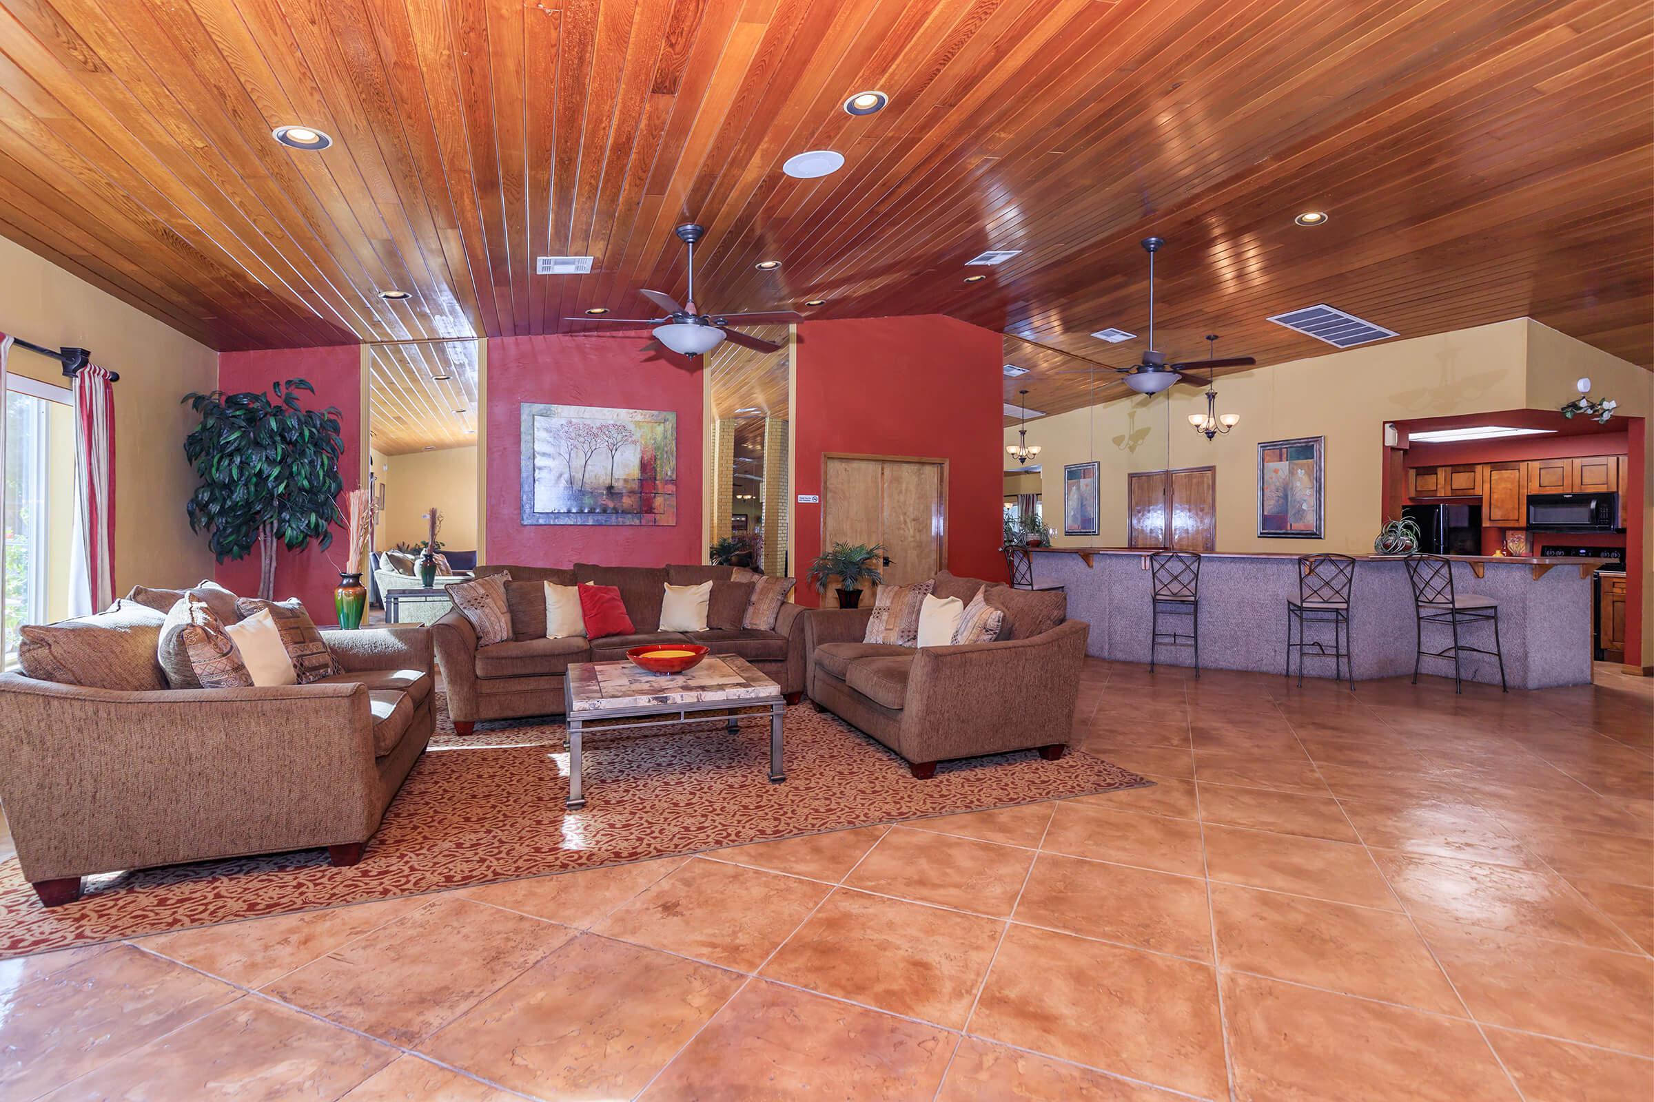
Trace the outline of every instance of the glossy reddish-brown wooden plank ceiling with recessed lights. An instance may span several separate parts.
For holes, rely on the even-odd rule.
[[[946,312],[1128,363],[1141,339],[1087,334],[1146,332],[1136,243],[1158,233],[1174,359],[1206,332],[1265,365],[1327,352],[1265,317],[1330,302],[1404,337],[1528,314],[1651,365],[1651,20],[1619,0],[0,0],[0,231],[218,349],[637,317],[638,287],[683,294],[672,226],[693,218],[698,297],[726,312]],[[870,88],[885,111],[840,111]],[[281,124],[334,145],[278,145]],[[847,164],[782,175],[807,149]],[[964,268],[986,248],[1022,253]],[[595,263],[534,276],[539,254]],[[1057,411],[1087,383],[1006,390]],[[759,390],[731,401],[767,408]]]

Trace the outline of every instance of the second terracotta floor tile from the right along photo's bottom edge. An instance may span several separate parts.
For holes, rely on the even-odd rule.
[[[1224,973],[1239,1102],[1518,1102],[1475,1024]]]

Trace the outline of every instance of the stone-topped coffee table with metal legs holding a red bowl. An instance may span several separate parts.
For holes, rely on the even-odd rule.
[[[569,798],[566,806],[586,806],[581,788],[581,742],[587,730],[640,730],[723,720],[729,734],[741,715],[769,710],[769,780],[787,780],[781,768],[781,719],[787,702],[781,686],[758,672],[744,658],[708,654],[681,674],[652,674],[632,663],[574,663],[562,677],[569,724]],[[708,715],[706,712],[716,712]]]

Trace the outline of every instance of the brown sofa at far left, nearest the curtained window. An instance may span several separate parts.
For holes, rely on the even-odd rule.
[[[346,671],[263,689],[0,674],[0,805],[50,905],[83,876],[326,846],[356,864],[433,730],[425,628],[327,631]]]

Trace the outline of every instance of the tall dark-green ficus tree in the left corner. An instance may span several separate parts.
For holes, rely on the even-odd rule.
[[[299,392],[316,393],[303,378],[260,392],[189,393],[184,401],[200,425],[184,439],[184,456],[200,476],[184,511],[190,529],[207,529],[218,562],[245,558],[258,547],[258,595],[276,585],[276,542],[303,550],[311,540],[327,550],[339,522],[344,489],[339,456],[339,410],[304,408]]]

